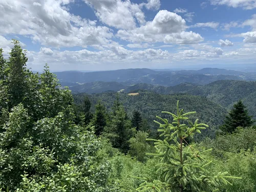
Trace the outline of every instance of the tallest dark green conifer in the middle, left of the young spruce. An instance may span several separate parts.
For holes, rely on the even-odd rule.
[[[115,148],[119,148],[123,153],[127,153],[129,150],[129,140],[132,137],[131,127],[131,120],[127,118],[127,114],[117,96],[104,135],[110,139]]]

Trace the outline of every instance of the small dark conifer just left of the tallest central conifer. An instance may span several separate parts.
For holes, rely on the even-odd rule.
[[[95,109],[96,111],[92,123],[95,127],[95,134],[99,136],[106,126],[106,109],[100,101],[96,104]]]

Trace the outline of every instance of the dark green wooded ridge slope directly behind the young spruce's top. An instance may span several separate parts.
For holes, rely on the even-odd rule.
[[[85,95],[89,96],[89,98],[91,99],[93,103],[93,109],[97,100],[101,100],[106,108],[111,110],[117,93],[101,93],[94,95],[88,95],[83,93],[75,94],[75,103],[81,104],[82,99]],[[181,104],[181,107],[185,110],[185,112],[194,109],[195,111],[197,111],[197,115],[195,116],[195,118],[199,118],[202,120],[202,122],[206,122],[208,125],[210,125],[210,128],[207,129],[204,134],[202,134],[202,137],[214,137],[215,131],[218,129],[218,126],[223,123],[225,117],[224,114],[227,113],[226,109],[223,108],[221,105],[217,105],[216,103],[201,96],[186,94],[163,95],[145,91],[139,91],[139,95],[137,96],[130,96],[122,92],[118,95],[120,102],[124,105],[124,109],[127,111],[127,115],[131,117],[133,110],[140,111],[143,118],[146,119],[148,124],[150,125],[150,130],[153,132],[155,132],[157,129],[157,124],[153,122],[156,114],[160,114],[161,111],[174,111],[175,102],[177,100],[180,100],[180,102],[183,103]],[[165,115],[161,117],[167,116]]]

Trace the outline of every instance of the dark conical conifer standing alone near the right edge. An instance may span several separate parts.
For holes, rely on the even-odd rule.
[[[252,116],[248,115],[248,110],[243,104],[242,100],[239,100],[233,105],[233,109],[228,113],[224,124],[220,129],[225,133],[233,133],[237,127],[247,127],[253,124]]]

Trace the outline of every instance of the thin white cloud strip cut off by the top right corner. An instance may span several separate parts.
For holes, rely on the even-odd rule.
[[[256,8],[255,0],[210,0],[211,5],[226,5],[228,7],[242,7],[243,9]]]

